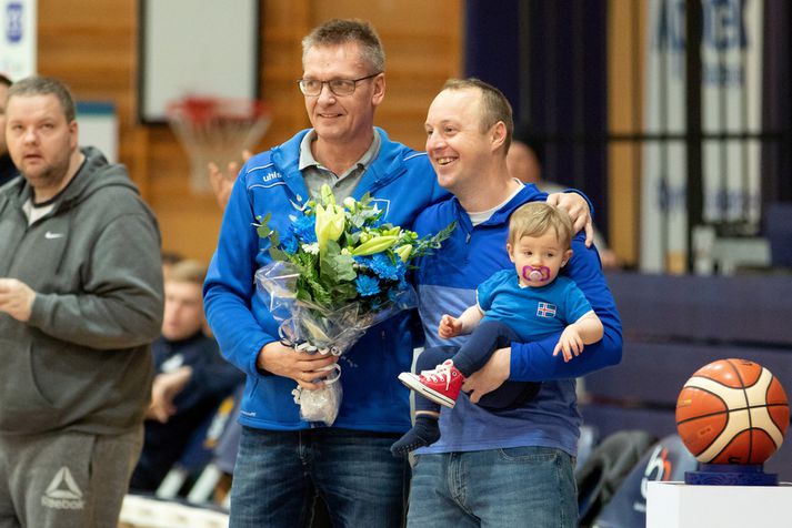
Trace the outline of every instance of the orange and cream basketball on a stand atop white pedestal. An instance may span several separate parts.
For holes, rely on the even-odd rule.
[[[676,399],[676,430],[704,464],[762,464],[781,446],[789,423],[783,387],[746,359],[703,366]]]

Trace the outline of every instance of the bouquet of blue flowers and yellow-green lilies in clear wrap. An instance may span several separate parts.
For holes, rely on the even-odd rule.
[[[368,328],[413,308],[418,298],[405,281],[409,262],[439,248],[455,224],[433,236],[382,221],[383,211],[365,194],[335,203],[323,185],[318,200],[290,215],[285,233],[257,224],[270,240],[272,262],[255,273],[282,343],[309,353],[342,355]],[[341,406],[341,367],[321,388],[292,394],[300,416],[332,425]]]

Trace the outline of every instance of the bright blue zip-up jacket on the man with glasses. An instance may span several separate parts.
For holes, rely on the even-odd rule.
[[[300,419],[291,378],[260,372],[259,351],[279,341],[278,323],[255,293],[253,274],[270,262],[269,240],[252,226],[271,213],[270,225],[285,233],[289,215],[309,192],[298,169],[304,130],[268,152],[251,158],[231,192],[218,248],[204,284],[209,324],[223,356],[248,375],[240,423],[255,428],[298,430],[312,425]],[[382,144],[352,196],[370,193],[384,210],[384,220],[412,227],[419,212],[448,193],[437,183],[423,152],[392,142],[375,129]],[[343,400],[333,427],[402,433],[410,428],[409,390],[397,379],[412,362],[413,332],[409,312],[377,325],[340,361]],[[418,341],[418,339],[417,339]]]

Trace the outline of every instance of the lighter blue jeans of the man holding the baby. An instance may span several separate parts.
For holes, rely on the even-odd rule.
[[[574,528],[573,466],[548,447],[418,455],[407,525]]]

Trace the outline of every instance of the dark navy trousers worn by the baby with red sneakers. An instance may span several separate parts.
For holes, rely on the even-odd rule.
[[[437,346],[419,354],[415,372],[431,370],[451,358],[454,366],[468,377],[483,367],[497,349],[509,347],[512,342],[520,341],[520,336],[508,325],[498,321],[483,321],[461,347]],[[495,390],[485,394],[479,400],[479,405],[493,410],[519,407],[533,399],[541,385],[533,382],[507,380]],[[440,406],[415,393],[415,410],[440,410]]]

